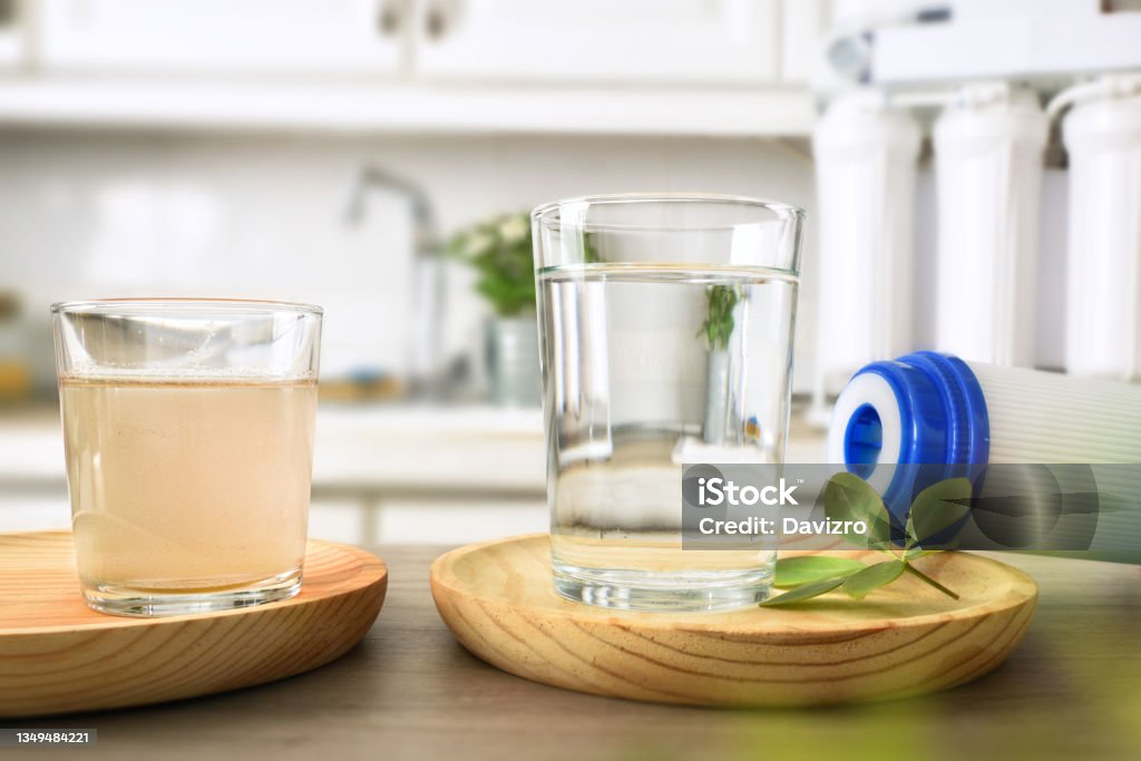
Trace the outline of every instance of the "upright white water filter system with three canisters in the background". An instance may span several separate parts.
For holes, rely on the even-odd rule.
[[[996,365],[1065,361],[1077,377],[1141,380],[1135,3],[834,0],[833,15],[814,75],[826,105],[814,136],[822,293],[809,419],[827,419],[839,379],[858,359],[919,347]],[[1066,157],[1049,154],[1051,167],[1068,160],[1066,267],[1041,264],[1054,241],[1037,240],[1050,136],[1039,104],[1052,96],[1052,115],[1070,108]],[[919,194],[915,242],[906,219],[915,199],[900,188],[915,185],[907,156],[922,151],[908,122],[930,137],[936,187],[933,210]],[[925,172],[921,163],[921,181]],[[887,283],[891,298],[882,299]],[[899,317],[905,305],[911,314]],[[1059,313],[1067,330],[1057,353],[1035,356],[1044,316]]]

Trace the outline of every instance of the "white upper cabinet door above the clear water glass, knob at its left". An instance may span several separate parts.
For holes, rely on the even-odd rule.
[[[777,0],[418,0],[415,71],[464,80],[775,83],[779,23]]]

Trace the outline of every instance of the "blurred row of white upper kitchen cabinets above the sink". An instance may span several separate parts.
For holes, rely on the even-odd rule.
[[[0,0],[0,127],[800,136],[830,0]],[[788,43],[782,40],[788,35]],[[7,47],[6,47],[7,46]]]

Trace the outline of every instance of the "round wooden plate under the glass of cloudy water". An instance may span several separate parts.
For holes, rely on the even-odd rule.
[[[0,535],[0,718],[175,701],[316,669],[364,637],[387,585],[380,558],[311,541],[293,599],[122,618],[84,605],[70,533]]]

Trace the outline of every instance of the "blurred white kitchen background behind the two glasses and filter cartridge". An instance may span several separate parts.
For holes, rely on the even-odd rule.
[[[0,531],[68,524],[49,303],[122,296],[325,308],[311,535],[545,531],[443,252],[570,195],[808,210],[793,461],[913,348],[1135,381],[1138,72],[1141,0],[0,0]]]

